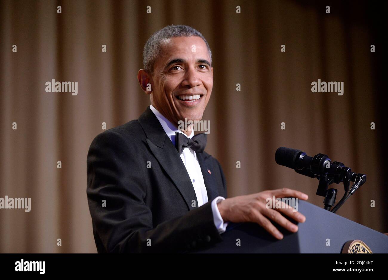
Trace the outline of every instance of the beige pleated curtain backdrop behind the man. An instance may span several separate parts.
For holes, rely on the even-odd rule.
[[[97,252],[86,196],[88,148],[103,122],[108,129],[124,124],[149,105],[137,71],[145,42],[168,24],[196,28],[212,49],[206,151],[222,164],[228,197],[289,187],[322,207],[318,181],[278,166],[274,154],[280,146],[325,153],[367,174],[338,214],[388,232],[386,68],[379,57],[387,26],[377,16],[386,7],[292,0],[1,1],[0,197],[30,197],[31,211],[0,209],[0,252]],[[77,81],[78,95],[45,92],[52,79]],[[344,94],[312,93],[318,79],[343,81]],[[343,186],[332,187],[338,201]]]

